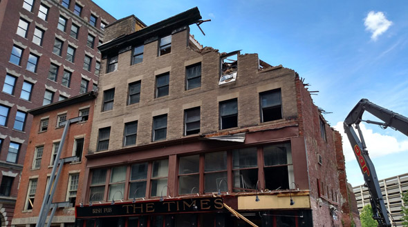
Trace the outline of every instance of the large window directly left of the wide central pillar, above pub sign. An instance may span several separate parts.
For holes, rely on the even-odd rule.
[[[160,196],[164,186],[167,186],[169,175],[169,159],[153,161],[151,164],[151,191],[150,196]],[[166,188],[167,189],[167,188]],[[163,196],[167,196],[167,191],[163,191]]]

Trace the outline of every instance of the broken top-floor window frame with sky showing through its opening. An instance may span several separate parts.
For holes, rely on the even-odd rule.
[[[239,50],[230,52],[221,57],[221,77],[219,85],[237,79]]]

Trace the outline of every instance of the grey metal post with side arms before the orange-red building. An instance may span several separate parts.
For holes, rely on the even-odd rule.
[[[59,127],[64,126],[64,132],[62,133],[61,141],[59,142],[59,147],[57,151],[57,156],[55,157],[53,171],[51,172],[50,179],[48,180],[46,193],[44,193],[44,199],[42,201],[41,210],[39,212],[38,220],[36,227],[44,227],[46,224],[46,219],[48,216],[48,212],[51,210],[50,218],[48,219],[47,227],[50,227],[51,222],[53,221],[53,217],[55,215],[55,211],[57,208],[60,207],[67,207],[70,206],[68,201],[59,202],[53,204],[53,197],[55,193],[55,188],[57,188],[59,175],[61,175],[62,166],[68,162],[77,161],[78,157],[66,157],[63,159],[59,159],[61,156],[62,148],[64,147],[64,141],[66,134],[68,133],[69,125],[81,121],[82,117],[75,117],[73,119],[68,119],[68,121],[63,121],[59,123]],[[55,174],[57,172],[57,174]]]

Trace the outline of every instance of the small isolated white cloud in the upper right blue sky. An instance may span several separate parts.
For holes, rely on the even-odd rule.
[[[392,21],[385,18],[384,12],[374,12],[370,11],[367,17],[364,19],[364,26],[366,30],[373,33],[371,34],[371,39],[377,40],[377,37],[388,30],[389,26],[392,25]]]

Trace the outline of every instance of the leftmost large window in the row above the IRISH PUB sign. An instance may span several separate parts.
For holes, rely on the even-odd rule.
[[[106,169],[92,171],[91,186],[89,188],[89,202],[104,199]]]

